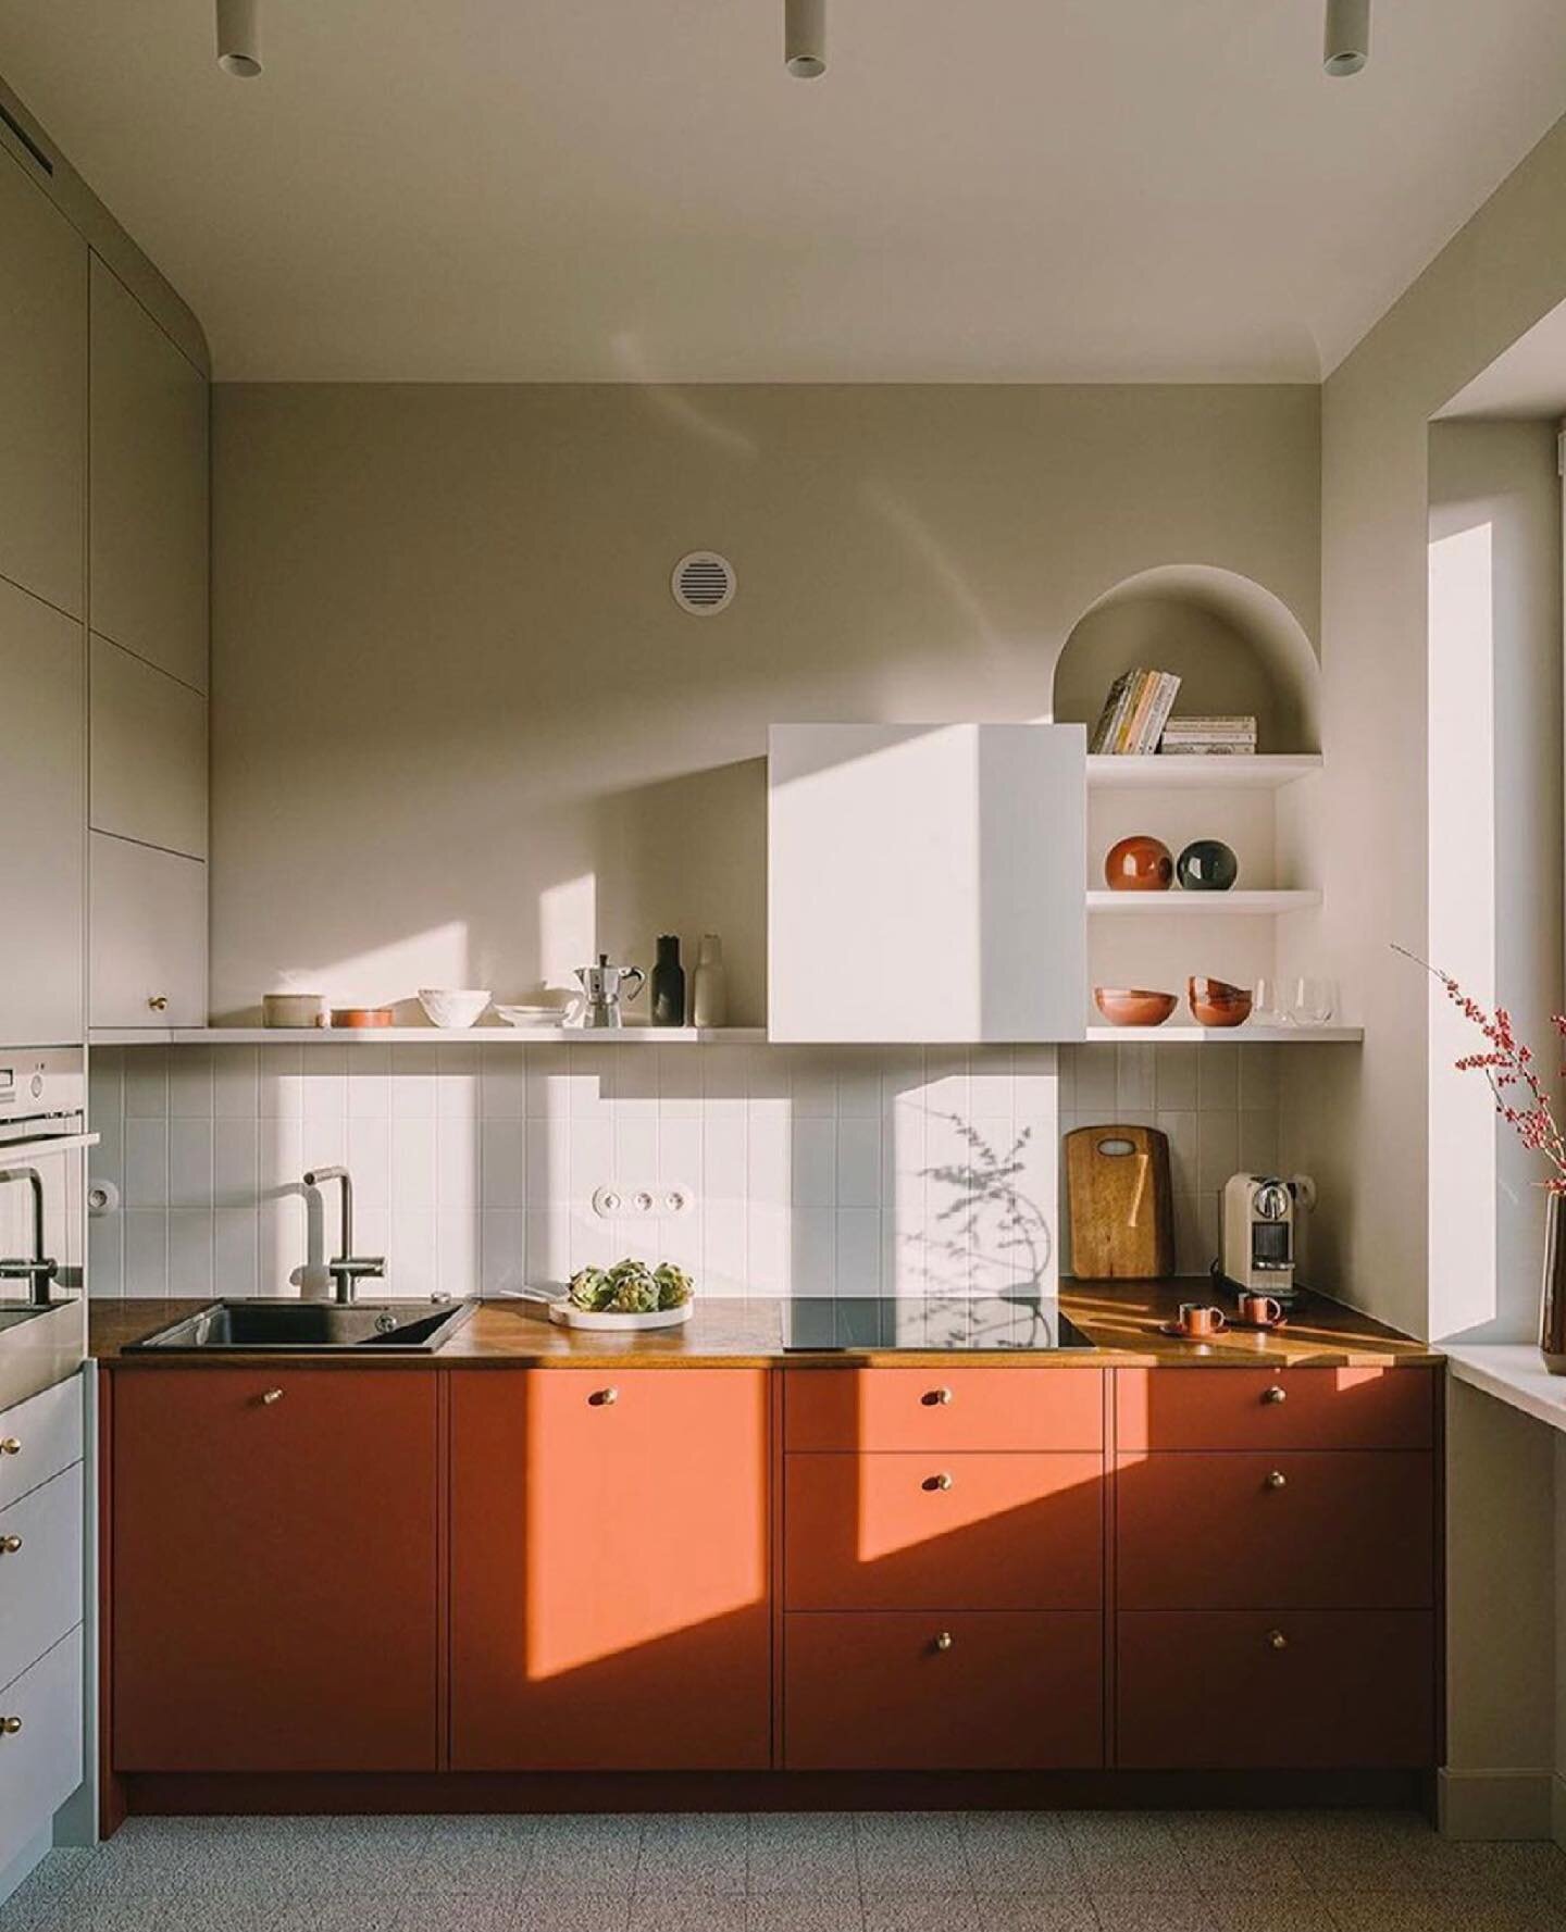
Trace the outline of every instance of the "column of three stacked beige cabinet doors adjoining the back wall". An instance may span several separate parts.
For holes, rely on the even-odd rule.
[[[91,1024],[207,1018],[207,381],[93,257]]]

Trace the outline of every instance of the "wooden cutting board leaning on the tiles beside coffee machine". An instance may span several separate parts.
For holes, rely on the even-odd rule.
[[[1174,1273],[1170,1142],[1154,1126],[1079,1126],[1065,1136],[1071,1273],[1154,1281]]]

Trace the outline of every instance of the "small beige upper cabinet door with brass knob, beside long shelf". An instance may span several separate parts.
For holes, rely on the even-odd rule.
[[[203,1026],[207,867],[91,835],[93,1026]]]

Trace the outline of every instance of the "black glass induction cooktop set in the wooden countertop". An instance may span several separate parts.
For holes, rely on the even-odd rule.
[[[824,1294],[783,1304],[785,1350],[829,1349],[1090,1349],[1036,1294]]]

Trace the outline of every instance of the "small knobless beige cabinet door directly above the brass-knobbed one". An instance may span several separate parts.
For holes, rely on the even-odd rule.
[[[95,831],[207,856],[207,699],[106,638],[91,641]]]

